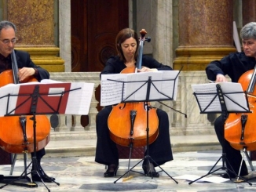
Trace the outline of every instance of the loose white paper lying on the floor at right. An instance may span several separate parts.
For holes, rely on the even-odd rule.
[[[188,181],[195,181],[199,179],[201,176],[196,175],[183,175],[183,176],[175,176],[174,179],[184,179]],[[225,181],[229,181],[229,179],[222,178],[221,176],[205,176],[196,182],[210,182],[210,183],[223,183]]]

